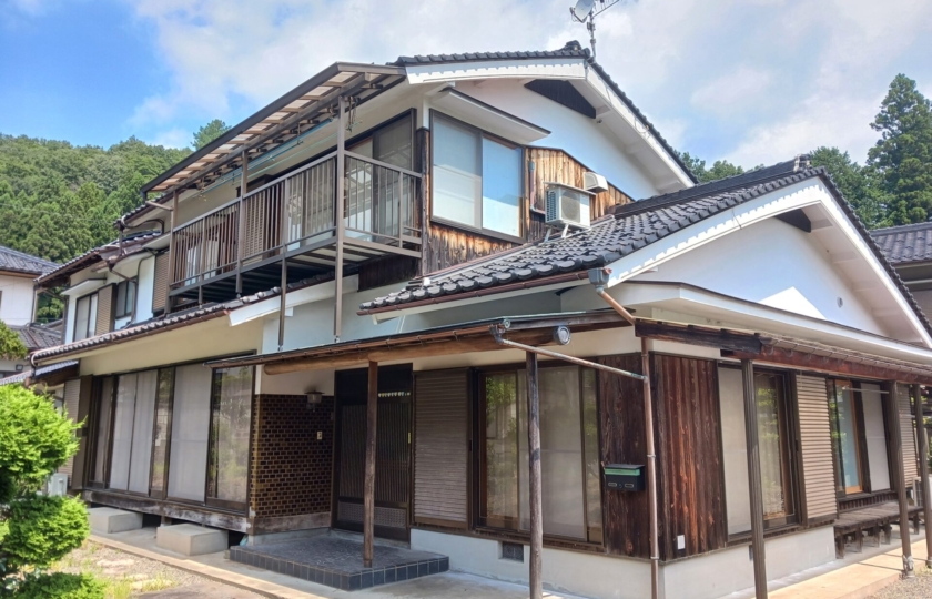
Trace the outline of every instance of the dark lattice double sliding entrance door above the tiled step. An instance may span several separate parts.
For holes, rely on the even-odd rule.
[[[368,372],[336,373],[334,528],[363,530]],[[378,368],[375,439],[375,535],[408,540],[411,508],[411,365]]]

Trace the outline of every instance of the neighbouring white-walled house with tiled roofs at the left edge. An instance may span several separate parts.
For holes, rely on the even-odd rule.
[[[0,245],[0,322],[14,329],[30,352],[61,343],[61,335],[55,337],[53,329],[37,327],[32,331],[31,325],[36,319],[33,280],[59,266]],[[23,372],[28,364],[23,359],[0,358],[0,378]]]

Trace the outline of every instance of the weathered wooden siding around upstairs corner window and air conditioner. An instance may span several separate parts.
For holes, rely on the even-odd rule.
[[[419,132],[418,132],[419,133]],[[427,144],[429,143],[429,135],[418,135],[419,145],[422,146],[423,164],[427,164]],[[544,197],[546,193],[545,182],[565,183],[575,187],[582,186],[582,174],[590,169],[587,169],[581,162],[574,159],[563,150],[555,150],[549,148],[528,148],[526,152],[526,160],[528,163],[534,163],[534,171],[526,170],[525,193],[526,197],[530,195],[530,190],[534,187],[534,197],[526,202],[525,206],[525,238],[527,241],[537,241],[544,237],[547,233],[547,227],[544,225],[544,215],[540,212],[530,210],[530,205],[543,209]],[[429,169],[424,169],[429,170]],[[534,182],[531,185],[531,176]],[[424,177],[424,200],[427,206],[428,214],[432,214],[429,203],[432,201],[430,179],[427,173]],[[631,202],[631,197],[625,194],[621,190],[609,185],[609,190],[596,195],[595,202],[591,206],[591,217],[598,219],[606,214],[609,206],[615,204],[627,204]],[[423,274],[429,274],[450,266],[456,266],[470,260],[476,260],[489,254],[510,250],[519,245],[507,240],[497,238],[489,235],[484,235],[480,232],[473,232],[455,226],[447,226],[442,223],[430,222],[428,219],[426,225],[425,244],[424,244],[424,264]]]

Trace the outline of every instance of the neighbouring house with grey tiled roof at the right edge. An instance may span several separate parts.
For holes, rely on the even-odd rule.
[[[925,314],[932,314],[932,222],[871,231]]]

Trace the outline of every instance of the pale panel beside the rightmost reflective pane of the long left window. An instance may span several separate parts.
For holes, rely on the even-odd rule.
[[[194,364],[175,369],[169,496],[204,500],[211,422],[211,369]]]

